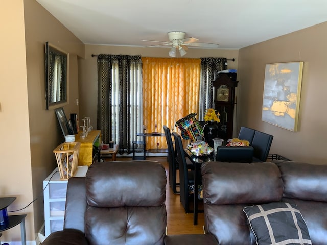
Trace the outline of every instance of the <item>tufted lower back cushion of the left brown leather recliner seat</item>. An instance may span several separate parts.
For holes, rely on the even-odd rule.
[[[85,234],[90,244],[162,245],[166,209],[157,207],[88,207]]]

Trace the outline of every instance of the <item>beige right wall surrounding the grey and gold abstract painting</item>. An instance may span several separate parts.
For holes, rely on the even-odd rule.
[[[274,136],[271,153],[292,160],[327,164],[327,22],[242,48],[239,54],[238,128]],[[265,65],[303,61],[298,131],[261,121]]]

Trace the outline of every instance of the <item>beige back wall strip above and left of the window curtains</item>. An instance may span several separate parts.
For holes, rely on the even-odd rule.
[[[97,126],[97,97],[98,97],[98,75],[97,75],[97,57],[91,57],[92,54],[113,54],[113,55],[141,55],[143,57],[169,57],[169,48],[153,47],[124,47],[124,46],[101,46],[86,45],[85,60],[79,60],[79,96],[80,114],[82,117],[91,117],[93,126]],[[201,57],[225,57],[227,59],[235,58],[235,62],[228,61],[229,69],[237,69],[238,50],[205,50],[190,48],[188,54],[183,58],[201,58]]]

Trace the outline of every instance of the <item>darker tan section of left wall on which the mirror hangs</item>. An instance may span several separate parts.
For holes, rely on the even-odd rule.
[[[84,44],[35,0],[24,1],[28,106],[30,121],[33,197],[43,189],[43,180],[56,167],[53,149],[64,141],[54,110],[45,108],[44,44],[49,41],[69,53],[69,105],[66,116],[78,113],[78,56],[84,57]],[[42,196],[41,196],[42,197]],[[34,233],[44,223],[43,199],[34,202]],[[28,227],[33,231],[33,227]],[[30,234],[31,235],[31,234]],[[29,237],[31,238],[31,236]],[[33,237],[32,237],[33,239]],[[29,240],[29,239],[28,239]]]

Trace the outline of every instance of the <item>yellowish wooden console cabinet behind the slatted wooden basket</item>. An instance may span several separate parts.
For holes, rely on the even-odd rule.
[[[78,165],[79,166],[90,166],[94,159],[98,156],[93,155],[93,146],[99,147],[101,143],[101,130],[92,130],[88,133],[87,137],[80,138],[80,135],[83,131],[79,131],[75,135],[75,141],[80,142],[80,152],[78,155]],[[97,153],[99,154],[99,152]]]

